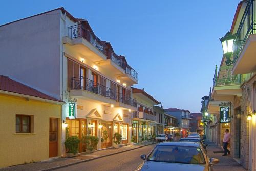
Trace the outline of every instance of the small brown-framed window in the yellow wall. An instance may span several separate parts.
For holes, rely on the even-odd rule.
[[[31,116],[16,115],[16,132],[30,133]]]

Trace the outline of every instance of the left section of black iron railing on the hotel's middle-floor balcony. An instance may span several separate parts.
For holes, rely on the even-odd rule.
[[[71,78],[71,90],[87,90],[95,94],[117,100],[116,91],[82,76]]]

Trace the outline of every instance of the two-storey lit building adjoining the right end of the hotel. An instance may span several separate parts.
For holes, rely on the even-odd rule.
[[[132,135],[135,143],[148,140],[153,134],[157,134],[158,118],[154,112],[154,105],[160,104],[154,97],[146,93],[144,89],[132,88],[133,97],[137,102],[137,110],[133,112]]]

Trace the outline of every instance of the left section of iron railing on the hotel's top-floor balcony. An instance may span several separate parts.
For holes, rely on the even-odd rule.
[[[87,41],[89,41],[93,46],[95,46],[100,52],[106,55],[106,47],[105,44],[94,34],[90,33],[90,31],[86,30],[82,24],[70,26],[69,30],[69,38],[74,39],[78,37],[83,37]]]

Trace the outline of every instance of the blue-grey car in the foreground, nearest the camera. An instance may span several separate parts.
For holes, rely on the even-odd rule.
[[[200,143],[183,141],[159,143],[148,156],[140,158],[144,162],[136,171],[212,171],[212,165],[219,163],[219,159],[206,156]]]

